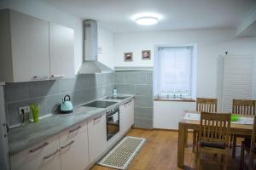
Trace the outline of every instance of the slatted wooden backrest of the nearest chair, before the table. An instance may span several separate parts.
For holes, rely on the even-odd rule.
[[[199,142],[229,145],[231,114],[201,112]]]

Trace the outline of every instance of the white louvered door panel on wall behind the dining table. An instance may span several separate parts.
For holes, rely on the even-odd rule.
[[[232,111],[232,99],[251,99],[253,88],[253,56],[224,57],[224,112]]]

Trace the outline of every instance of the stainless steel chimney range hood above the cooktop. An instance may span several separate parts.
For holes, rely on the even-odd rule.
[[[107,65],[97,61],[98,33],[96,20],[84,20],[84,62],[79,74],[110,73]]]

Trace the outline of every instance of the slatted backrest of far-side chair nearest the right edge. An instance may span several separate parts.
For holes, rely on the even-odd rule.
[[[255,115],[255,100],[233,99],[232,113],[237,115]]]

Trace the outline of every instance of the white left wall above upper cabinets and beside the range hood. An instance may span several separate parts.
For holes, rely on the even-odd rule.
[[[75,71],[79,71],[80,65],[83,62],[83,19],[80,19],[73,14],[55,8],[49,3],[40,0],[1,0],[0,8],[12,8],[24,14],[30,14],[43,20],[49,20],[61,26],[67,26],[74,29],[74,64]],[[108,57],[113,57],[113,35],[110,31],[105,31],[104,28],[99,28],[99,43],[103,45],[103,54],[99,55],[99,60],[104,64],[111,64]],[[108,43],[109,42],[109,43]],[[106,46],[106,47],[105,47]]]

